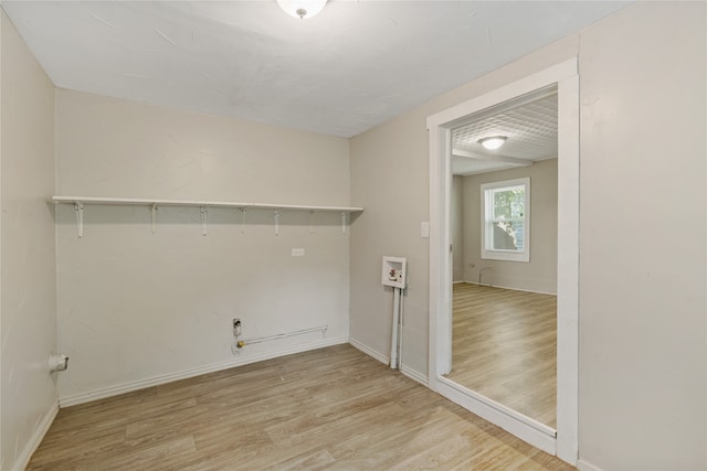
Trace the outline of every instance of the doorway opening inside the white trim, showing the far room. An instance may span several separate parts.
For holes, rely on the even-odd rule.
[[[557,86],[452,129],[452,368],[557,427]],[[500,146],[487,149],[489,138]]]

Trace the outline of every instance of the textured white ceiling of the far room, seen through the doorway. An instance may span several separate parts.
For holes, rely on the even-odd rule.
[[[452,173],[468,175],[557,158],[557,89],[502,105],[497,111],[472,115],[452,130]],[[506,143],[487,150],[479,139],[506,136]]]

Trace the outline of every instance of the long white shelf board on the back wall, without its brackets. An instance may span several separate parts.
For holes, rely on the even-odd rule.
[[[283,210],[283,211],[334,211],[345,213],[359,213],[362,207],[355,206],[308,206],[297,204],[277,203],[238,203],[224,201],[190,201],[190,200],[140,200],[129,197],[95,197],[95,196],[52,196],[54,203],[67,204],[122,204],[133,206],[194,206],[194,207],[235,207],[254,210]]]

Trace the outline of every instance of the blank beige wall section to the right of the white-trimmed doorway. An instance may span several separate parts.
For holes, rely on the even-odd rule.
[[[669,2],[582,35],[580,443],[604,469],[707,469],[706,28]]]

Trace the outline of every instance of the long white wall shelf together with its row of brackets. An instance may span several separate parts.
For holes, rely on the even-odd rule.
[[[113,204],[126,206],[147,206],[151,210],[152,233],[157,222],[158,206],[181,206],[181,207],[199,207],[201,211],[202,233],[207,235],[207,217],[210,207],[230,207],[240,210],[241,226],[245,227],[245,214],[249,210],[272,210],[274,212],[275,235],[279,234],[279,212],[281,211],[308,211],[312,214],[309,231],[313,232],[314,214],[317,212],[336,212],[341,214],[341,233],[346,234],[347,215],[350,213],[360,213],[362,207],[355,206],[308,206],[299,204],[271,204],[271,203],[236,203],[223,201],[188,201],[188,200],[137,200],[129,197],[93,197],[93,196],[52,196],[55,204],[73,204],[76,211],[76,231],[78,237],[84,234],[84,204]],[[245,232],[245,228],[242,229]]]

